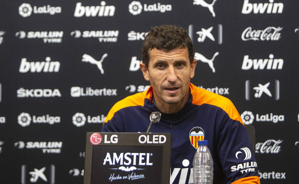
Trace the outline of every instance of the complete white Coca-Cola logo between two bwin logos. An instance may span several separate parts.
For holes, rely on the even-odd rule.
[[[267,27],[264,30],[252,30],[252,27],[247,27],[242,33],[242,40],[254,40],[254,41],[264,41],[264,40],[271,40],[277,41],[281,38],[281,31],[283,27]]]

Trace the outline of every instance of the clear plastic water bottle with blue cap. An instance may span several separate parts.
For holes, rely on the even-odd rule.
[[[207,140],[198,141],[193,158],[193,184],[213,184],[213,159]]]

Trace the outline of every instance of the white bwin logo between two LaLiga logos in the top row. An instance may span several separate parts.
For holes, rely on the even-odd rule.
[[[107,17],[114,16],[115,6],[106,6],[105,1],[101,1],[101,6],[82,6],[82,3],[79,2],[76,4],[76,9],[74,16],[75,17]]]

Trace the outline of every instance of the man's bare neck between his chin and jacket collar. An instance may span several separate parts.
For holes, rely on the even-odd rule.
[[[156,108],[165,114],[174,114],[179,112],[179,110],[181,110],[181,108],[183,108],[183,106],[187,103],[188,99],[189,99],[189,93],[185,95],[184,98],[179,103],[168,104],[165,103],[163,100],[161,100],[157,95],[154,96],[154,102]]]

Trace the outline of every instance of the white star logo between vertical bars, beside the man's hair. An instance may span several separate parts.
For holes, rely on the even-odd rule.
[[[196,32],[196,35],[198,35],[197,41],[199,43],[203,43],[205,40],[215,41],[215,37],[216,37],[217,43],[219,45],[222,44],[222,24],[218,24],[217,26],[211,26],[209,28],[203,28],[202,27],[200,29],[201,29],[200,31]],[[189,27],[188,27],[188,35],[191,38],[192,43],[194,43],[193,31],[194,31],[194,25],[190,24]],[[216,34],[215,34],[215,32],[216,32]]]

